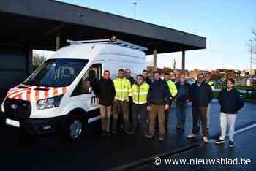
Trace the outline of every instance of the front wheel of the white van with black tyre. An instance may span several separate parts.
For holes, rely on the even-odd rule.
[[[81,138],[83,132],[83,121],[79,117],[71,116],[67,121],[67,136],[71,140]]]

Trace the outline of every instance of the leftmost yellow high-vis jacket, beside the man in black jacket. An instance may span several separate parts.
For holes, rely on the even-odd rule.
[[[124,101],[129,99],[129,96],[132,96],[131,83],[125,77],[122,79],[117,77],[113,80],[113,83],[116,90],[115,99]]]

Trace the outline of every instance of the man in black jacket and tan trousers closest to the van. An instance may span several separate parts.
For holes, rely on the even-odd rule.
[[[110,135],[111,107],[116,91],[110,72],[105,70],[104,76],[97,85],[97,97],[99,98],[100,118],[102,122],[102,136]]]

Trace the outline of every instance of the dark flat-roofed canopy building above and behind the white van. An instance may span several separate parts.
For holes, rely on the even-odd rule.
[[[56,50],[68,45],[67,39],[109,39],[115,35],[146,47],[146,54],[155,53],[155,57],[156,52],[206,48],[205,37],[53,0],[1,0],[0,18],[0,75],[9,79],[0,89],[31,73],[33,49]],[[12,62],[16,60],[19,64]]]

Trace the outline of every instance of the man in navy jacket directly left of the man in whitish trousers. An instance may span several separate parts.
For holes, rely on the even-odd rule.
[[[197,81],[192,84],[189,91],[189,96],[192,101],[192,116],[193,116],[193,129],[192,134],[189,134],[188,138],[197,137],[199,133],[198,120],[201,120],[203,131],[203,142],[208,142],[208,130],[207,130],[207,107],[213,99],[213,91],[211,86],[204,82],[204,75],[197,75]]]

